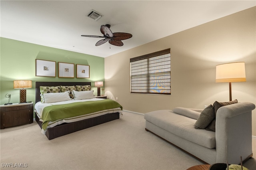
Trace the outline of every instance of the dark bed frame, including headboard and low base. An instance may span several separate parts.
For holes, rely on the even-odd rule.
[[[41,101],[40,97],[40,86],[60,86],[60,85],[66,85],[66,86],[71,86],[71,85],[91,85],[91,82],[41,82],[37,81],[36,82],[36,103],[38,101]],[[100,125],[102,123],[106,123],[109,121],[113,121],[119,119],[119,113],[110,113],[106,115],[101,115],[98,117],[93,117],[89,119],[85,119],[82,121],[77,121],[73,123],[62,123],[61,125],[57,125],[52,128],[48,128],[46,130],[45,135],[49,140],[70,134],[73,132],[76,132],[78,130],[82,130],[85,128],[93,127],[96,125]],[[35,115],[35,120],[42,128],[42,122],[39,121],[39,118]]]

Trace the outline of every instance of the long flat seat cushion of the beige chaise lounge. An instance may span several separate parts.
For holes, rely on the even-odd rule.
[[[205,129],[195,129],[195,119],[179,115],[171,110],[160,110],[145,113],[144,119],[154,125],[167,130],[201,146],[215,148],[215,132]]]

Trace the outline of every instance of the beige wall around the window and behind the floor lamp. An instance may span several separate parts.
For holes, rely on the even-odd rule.
[[[246,64],[246,82],[232,83],[232,99],[256,103],[256,7],[105,58],[105,93],[124,110],[147,113],[174,107],[204,108],[228,101],[228,83],[215,83],[216,65]],[[171,25],[171,24],[170,24]],[[130,58],[171,49],[172,95],[130,93]],[[256,136],[256,109],[253,135]]]

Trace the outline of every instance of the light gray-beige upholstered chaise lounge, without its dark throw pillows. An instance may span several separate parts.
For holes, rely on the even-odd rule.
[[[203,109],[177,107],[145,113],[146,130],[208,164],[239,164],[252,157],[252,110],[249,102],[220,107],[214,131],[195,129]]]

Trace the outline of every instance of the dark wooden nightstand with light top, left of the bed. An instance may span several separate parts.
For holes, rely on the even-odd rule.
[[[0,129],[33,123],[33,102],[0,105]]]

